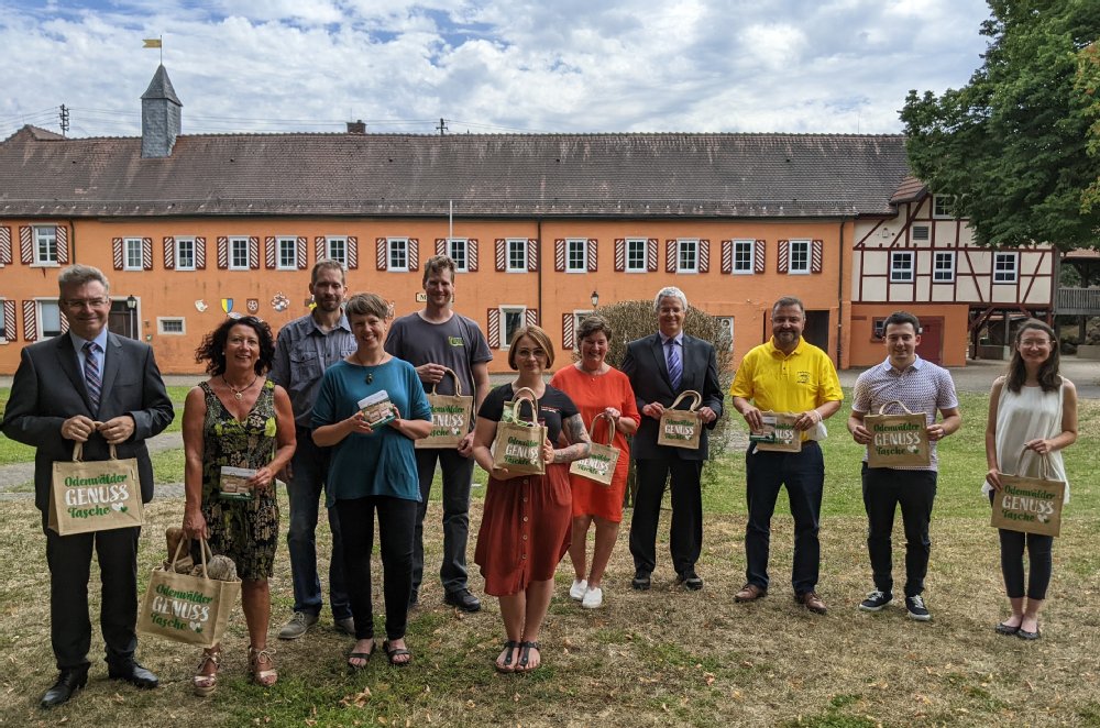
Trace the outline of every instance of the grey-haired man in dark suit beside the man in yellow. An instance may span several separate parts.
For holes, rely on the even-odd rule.
[[[676,582],[689,589],[703,588],[695,562],[703,548],[703,498],[700,476],[707,455],[707,430],[722,417],[722,385],[714,346],[683,332],[688,298],[675,287],[662,288],[654,299],[659,331],[627,344],[623,372],[630,378],[641,424],[634,435],[630,456],[637,462],[638,493],[630,521],[630,553],[635,575],[630,585],[648,589],[657,565],[657,523],[664,484],[670,479],[672,526],[669,545]],[[693,389],[703,397],[700,419],[706,426],[697,450],[657,444],[661,415],[680,393]],[[690,401],[680,408],[686,409]]]

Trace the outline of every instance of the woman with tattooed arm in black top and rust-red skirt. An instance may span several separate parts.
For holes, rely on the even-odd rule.
[[[508,365],[519,372],[512,384],[485,397],[474,430],[474,460],[490,473],[485,510],[474,561],[485,577],[485,593],[501,599],[507,641],[496,659],[501,672],[530,672],[542,662],[539,631],[553,594],[553,574],[565,555],[570,523],[569,464],[588,454],[588,432],[569,397],[543,383],[553,363],[553,344],[538,327],[516,331],[508,349]],[[490,446],[504,413],[504,402],[527,387],[538,399],[537,419],[547,428],[542,445],[546,475],[510,473],[494,467]],[[530,402],[521,404],[530,417]],[[556,450],[564,431],[573,443]]]

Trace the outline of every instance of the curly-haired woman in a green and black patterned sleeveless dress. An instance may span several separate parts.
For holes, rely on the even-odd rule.
[[[283,387],[266,372],[275,354],[271,329],[248,316],[227,319],[195,352],[210,378],[184,402],[184,532],[210,543],[210,550],[237,564],[241,602],[249,626],[249,666],[263,687],[278,680],[275,650],[267,648],[271,591],[267,578],[278,543],[275,474],[294,454],[294,413]],[[221,490],[223,466],[245,468],[248,495]],[[198,553],[195,554],[196,561]],[[218,686],[221,644],[202,652],[194,679],[195,694]]]

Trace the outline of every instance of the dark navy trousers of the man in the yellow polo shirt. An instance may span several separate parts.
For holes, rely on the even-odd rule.
[[[795,595],[813,592],[821,570],[822,490],[825,487],[825,461],[812,440],[802,443],[801,452],[763,452],[756,445],[745,455],[746,499],[749,522],[745,530],[746,581],[768,588],[768,550],[771,516],[779,489],[787,486],[794,517],[794,564],[791,586]]]

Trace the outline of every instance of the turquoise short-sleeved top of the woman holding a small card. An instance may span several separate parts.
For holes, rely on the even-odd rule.
[[[314,402],[312,427],[348,419],[359,411],[363,397],[382,389],[397,406],[402,419],[431,421],[431,408],[416,369],[408,362],[394,357],[377,366],[360,366],[345,361],[330,366]],[[330,507],[337,500],[367,496],[420,500],[413,441],[388,424],[373,434],[352,432],[332,446],[324,485]]]

